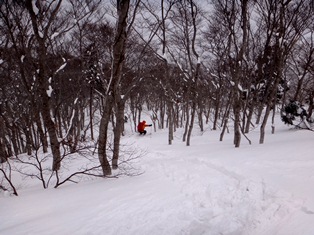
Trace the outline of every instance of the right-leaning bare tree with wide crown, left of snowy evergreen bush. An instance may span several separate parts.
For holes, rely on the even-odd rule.
[[[262,144],[265,139],[268,116],[270,111],[275,108],[278,86],[283,80],[284,65],[292,48],[311,24],[313,12],[311,3],[306,0],[299,1],[296,4],[292,1],[273,2],[266,0],[258,7],[259,11],[263,12],[264,22],[268,26],[265,49],[270,51],[273,58],[273,65],[268,71],[270,80],[267,80],[264,96],[266,110],[260,128],[259,140]],[[266,11],[264,10],[265,7]],[[265,73],[261,74],[265,75]]]

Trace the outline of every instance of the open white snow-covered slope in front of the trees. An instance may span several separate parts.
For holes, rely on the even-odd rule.
[[[14,182],[18,197],[0,195],[0,234],[314,234],[314,133],[278,118],[263,145],[259,128],[237,149],[232,133],[223,142],[219,134],[195,127],[187,147],[182,130],[171,146],[167,131],[128,131],[122,142],[147,152],[133,162],[139,176],[46,190]]]

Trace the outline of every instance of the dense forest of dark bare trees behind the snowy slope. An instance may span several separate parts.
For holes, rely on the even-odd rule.
[[[110,176],[126,110],[136,126],[144,107],[187,146],[195,124],[220,140],[232,126],[235,147],[259,125],[262,144],[290,101],[311,121],[312,0],[2,0],[0,27],[2,163],[27,153],[40,169],[43,152],[58,178],[94,141]]]

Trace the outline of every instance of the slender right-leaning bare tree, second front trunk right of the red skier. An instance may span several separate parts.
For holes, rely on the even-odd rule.
[[[195,1],[181,1],[177,2],[175,6],[171,21],[173,27],[169,30],[171,42],[175,46],[169,48],[168,53],[180,68],[187,82],[184,100],[186,124],[183,141],[186,140],[186,145],[189,146],[198,103],[197,87],[201,66],[200,52],[197,48],[200,9]]]

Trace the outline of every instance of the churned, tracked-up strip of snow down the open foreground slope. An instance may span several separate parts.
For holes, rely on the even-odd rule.
[[[156,162],[153,165],[156,168]],[[259,226],[282,220],[299,207],[290,195],[272,192],[262,181],[247,179],[203,158],[174,158],[159,163],[157,172],[179,187],[184,196],[182,206],[185,201],[192,203],[188,230],[178,234],[252,234]]]

